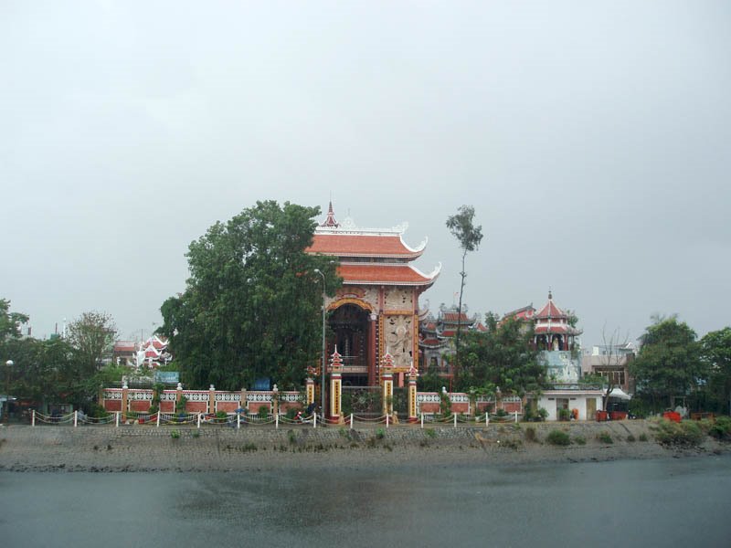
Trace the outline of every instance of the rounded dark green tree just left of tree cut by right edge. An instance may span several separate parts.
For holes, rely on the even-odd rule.
[[[657,410],[673,405],[673,396],[691,395],[707,368],[701,360],[700,345],[693,329],[676,318],[656,319],[641,337],[637,358],[630,374],[637,393]]]

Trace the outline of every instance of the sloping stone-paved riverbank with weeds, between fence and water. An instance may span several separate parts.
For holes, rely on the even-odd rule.
[[[546,442],[553,430],[571,444]],[[489,427],[0,427],[0,470],[252,471],[418,464],[544,464],[731,453],[705,437],[691,448],[654,441],[651,421]]]

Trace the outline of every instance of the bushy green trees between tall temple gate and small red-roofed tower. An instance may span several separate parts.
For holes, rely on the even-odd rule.
[[[499,321],[497,315],[485,316],[487,332],[465,333],[462,352],[462,377],[456,390],[474,387],[494,394],[497,387],[505,394],[524,395],[546,385],[546,366],[538,362],[531,346],[533,323],[516,318]]]

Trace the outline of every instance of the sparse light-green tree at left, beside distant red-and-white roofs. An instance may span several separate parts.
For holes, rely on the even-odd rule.
[[[111,355],[117,327],[106,312],[84,312],[69,324],[69,344],[79,362],[79,374],[90,376]]]

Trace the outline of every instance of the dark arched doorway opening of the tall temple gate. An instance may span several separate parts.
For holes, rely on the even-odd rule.
[[[355,304],[344,304],[330,316],[334,333],[329,353],[334,344],[343,356],[343,385],[367,385],[369,358],[369,330],[372,327],[368,311]]]

